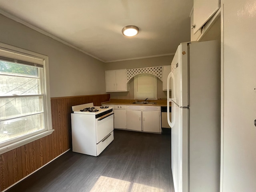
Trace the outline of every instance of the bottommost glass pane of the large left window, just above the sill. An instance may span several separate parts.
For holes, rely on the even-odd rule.
[[[44,115],[35,114],[0,122],[0,142],[44,129]]]

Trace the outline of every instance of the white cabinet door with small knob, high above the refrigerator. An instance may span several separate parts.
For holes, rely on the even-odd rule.
[[[194,34],[206,24],[206,22],[220,8],[220,0],[194,0]]]

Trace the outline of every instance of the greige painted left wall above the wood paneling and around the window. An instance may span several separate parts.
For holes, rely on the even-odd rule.
[[[51,97],[106,93],[103,62],[2,15],[0,42],[49,57]]]

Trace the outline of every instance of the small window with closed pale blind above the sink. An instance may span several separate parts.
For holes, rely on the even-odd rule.
[[[134,76],[134,98],[135,99],[156,99],[157,81],[152,74],[138,74]]]

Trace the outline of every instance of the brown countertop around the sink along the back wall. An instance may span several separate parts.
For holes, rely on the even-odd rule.
[[[102,102],[101,104],[110,105],[150,105],[150,106],[167,106],[167,100],[147,100],[148,102],[155,102],[156,104],[134,104],[134,102],[144,101],[140,99],[110,99],[110,101]]]

